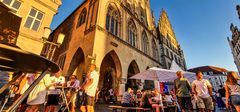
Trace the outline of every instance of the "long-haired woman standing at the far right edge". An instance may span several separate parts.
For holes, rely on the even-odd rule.
[[[240,79],[236,72],[228,72],[225,83],[226,106],[229,107],[228,99],[231,97],[231,103],[240,112]]]

